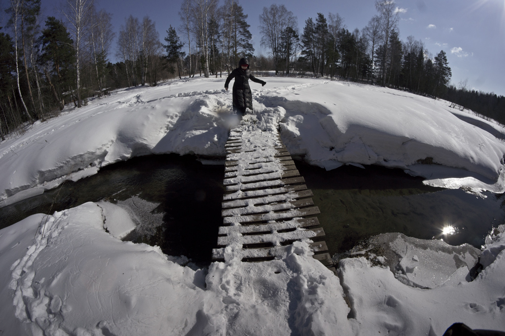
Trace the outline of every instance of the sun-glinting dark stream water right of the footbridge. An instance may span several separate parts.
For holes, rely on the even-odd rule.
[[[481,198],[462,190],[425,186],[421,178],[376,166],[365,170],[344,166],[330,172],[297,166],[314,192],[332,255],[385,232],[480,247],[491,228],[505,219],[501,195],[487,193],[487,198]],[[455,232],[442,235],[447,223]]]

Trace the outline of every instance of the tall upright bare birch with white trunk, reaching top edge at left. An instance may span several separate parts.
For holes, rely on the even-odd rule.
[[[69,32],[74,39],[76,72],[77,72],[77,107],[82,106],[81,100],[81,44],[89,28],[88,22],[91,18],[94,5],[93,0],[66,0],[65,8],[62,11],[70,24]]]

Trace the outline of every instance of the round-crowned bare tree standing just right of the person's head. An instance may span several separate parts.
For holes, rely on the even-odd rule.
[[[263,13],[260,15],[261,45],[270,49],[274,58],[276,74],[279,72],[282,31],[287,27],[297,30],[298,23],[296,16],[293,16],[293,13],[288,11],[284,5],[263,8]]]

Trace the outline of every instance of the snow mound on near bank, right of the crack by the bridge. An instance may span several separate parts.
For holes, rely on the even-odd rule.
[[[493,235],[492,242],[484,247],[480,260],[485,255],[495,258],[472,282],[465,277],[471,265],[466,263],[474,259],[474,252],[467,246],[443,246],[436,240],[388,235],[376,242],[380,241],[378,245],[390,245],[394,253],[403,250],[401,261],[407,261],[400,267],[405,267],[407,272],[412,265],[422,263],[424,257],[421,253],[433,258],[426,261],[428,267],[417,266],[424,280],[431,282],[430,276],[438,278],[443,273],[443,267],[449,268],[445,277],[452,270],[456,269],[456,272],[446,281],[435,279],[438,280],[436,288],[422,289],[399,281],[389,267],[380,266],[377,256],[341,260],[339,277],[351,305],[349,317],[355,334],[380,332],[436,336],[442,335],[456,322],[464,322],[472,329],[505,330],[505,297],[502,291],[505,254],[502,251],[497,253],[495,249],[503,244],[505,235]],[[434,257],[439,247],[439,256]],[[387,263],[382,258],[379,260]],[[435,272],[432,272],[433,269]]]

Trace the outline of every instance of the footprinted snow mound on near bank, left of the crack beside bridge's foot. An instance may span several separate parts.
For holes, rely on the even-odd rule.
[[[0,264],[11,270],[0,276],[6,334],[350,334],[338,278],[307,243],[270,262],[213,263],[206,274],[120,241],[105,218],[85,203],[0,230]]]

